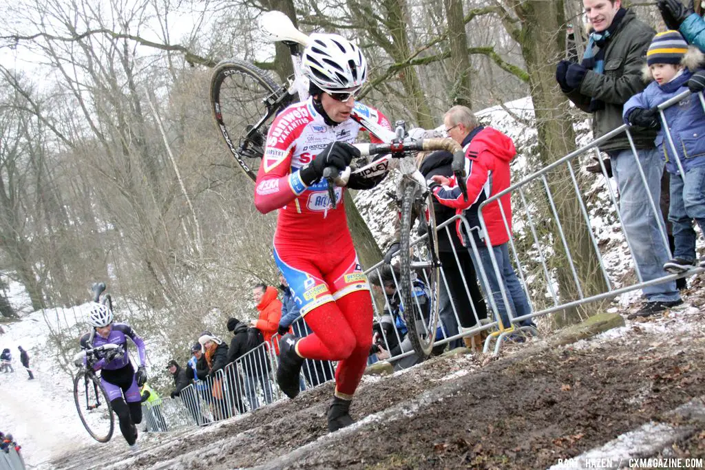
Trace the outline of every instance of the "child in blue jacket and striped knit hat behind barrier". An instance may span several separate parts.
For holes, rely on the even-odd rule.
[[[659,128],[656,147],[666,160],[670,173],[668,220],[673,223],[675,252],[663,265],[670,273],[682,273],[697,266],[693,219],[705,233],[705,111],[697,94],[663,110],[673,142],[661,128],[656,106],[688,89],[694,70],[703,66],[705,56],[688,47],[680,32],[658,33],[646,52],[644,76],[654,82],[624,105],[625,123],[642,128]],[[673,146],[671,145],[673,143]],[[675,148],[675,154],[674,154]],[[678,162],[685,172],[681,175]],[[705,267],[705,259],[700,262]]]

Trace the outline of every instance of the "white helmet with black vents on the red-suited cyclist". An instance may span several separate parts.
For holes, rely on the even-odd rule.
[[[301,63],[309,80],[324,92],[360,89],[367,80],[362,51],[339,35],[313,33]]]

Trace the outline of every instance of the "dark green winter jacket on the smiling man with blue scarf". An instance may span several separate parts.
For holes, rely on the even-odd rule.
[[[654,34],[656,32],[649,25],[628,10],[606,44],[604,73],[588,70],[580,88],[565,93],[575,106],[586,113],[590,112],[591,99],[604,102],[604,108],[593,114],[592,130],[595,138],[620,127],[623,124],[622,109],[627,99],[646,87],[642,81],[642,66]],[[632,137],[637,149],[653,149],[656,131],[632,130]],[[625,133],[600,145],[602,151],[630,148]]]

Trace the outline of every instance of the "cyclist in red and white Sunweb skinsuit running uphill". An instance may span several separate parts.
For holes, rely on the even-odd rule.
[[[350,237],[343,189],[336,187],[331,206],[326,167],[343,171],[360,152],[351,145],[362,114],[390,128],[376,109],[355,101],[367,80],[362,51],[338,35],[313,34],[302,55],[311,98],[282,111],[267,135],[257,175],[255,206],[266,214],[280,209],[274,235],[274,259],[309,327],[306,338],[284,335],[276,372],[283,392],[299,392],[304,359],[339,361],[336,391],[328,411],[330,431],[353,423],[350,400],[360,383],[372,345],[372,300]],[[375,142],[379,142],[376,140]],[[348,187],[369,189],[386,175],[352,175]]]

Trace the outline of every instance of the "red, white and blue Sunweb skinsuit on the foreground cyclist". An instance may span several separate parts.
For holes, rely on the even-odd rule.
[[[390,128],[376,109],[356,103],[353,112]],[[274,258],[314,331],[298,342],[298,352],[307,359],[340,361],[336,395],[345,400],[367,365],[372,299],[345,219],[343,188],[336,187],[332,209],[327,181],[306,187],[298,170],[331,142],[354,142],[360,130],[352,119],[326,124],[312,99],[289,106],[269,129],[255,188],[257,210],[279,209]]]

